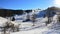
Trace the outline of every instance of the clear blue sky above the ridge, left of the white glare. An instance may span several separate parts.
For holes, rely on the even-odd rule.
[[[53,0],[0,0],[0,8],[7,9],[46,9]]]

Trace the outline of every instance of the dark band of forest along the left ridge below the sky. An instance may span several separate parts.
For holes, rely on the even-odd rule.
[[[10,17],[14,16],[15,14],[21,15],[25,12],[29,13],[32,12],[32,10],[12,10],[12,9],[0,9],[0,16],[2,17]]]

